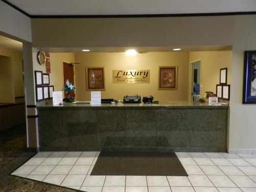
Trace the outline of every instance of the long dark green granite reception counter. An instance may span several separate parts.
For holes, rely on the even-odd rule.
[[[226,152],[228,108],[38,102],[39,151]]]

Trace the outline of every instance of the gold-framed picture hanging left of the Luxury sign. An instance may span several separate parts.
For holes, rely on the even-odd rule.
[[[86,89],[105,90],[105,74],[103,67],[86,68]]]

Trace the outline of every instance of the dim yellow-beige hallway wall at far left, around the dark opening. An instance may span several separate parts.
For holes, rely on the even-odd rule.
[[[0,55],[11,58],[12,69],[12,81],[14,97],[24,96],[24,81],[23,81],[23,69],[22,69],[22,51],[16,51],[12,49],[0,48]]]

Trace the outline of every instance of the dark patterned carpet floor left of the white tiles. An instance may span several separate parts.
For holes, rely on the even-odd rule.
[[[46,183],[10,176],[14,169],[34,153],[26,152],[26,125],[0,132],[0,191],[1,192],[72,192]]]

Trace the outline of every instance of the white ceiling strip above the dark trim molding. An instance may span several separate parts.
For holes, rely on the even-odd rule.
[[[255,0],[2,0],[29,15],[138,15],[255,12]]]

